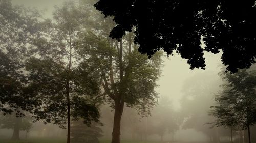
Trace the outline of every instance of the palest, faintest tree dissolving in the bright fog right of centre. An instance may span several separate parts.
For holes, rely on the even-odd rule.
[[[212,73],[196,74],[184,82],[181,117],[183,129],[194,129],[206,135],[211,142],[219,142],[219,128],[209,128],[211,126],[206,124],[214,121],[214,117],[208,115],[209,106],[214,105],[214,94],[222,84],[221,79],[214,76]]]

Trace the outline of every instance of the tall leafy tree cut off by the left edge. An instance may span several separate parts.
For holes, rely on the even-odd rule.
[[[27,94],[24,60],[33,39],[40,36],[40,13],[9,0],[0,1],[0,110],[31,110],[36,103]]]

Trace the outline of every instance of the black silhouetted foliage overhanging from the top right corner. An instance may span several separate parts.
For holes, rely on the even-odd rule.
[[[111,38],[120,40],[135,27],[139,51],[151,57],[163,49],[176,50],[187,59],[190,69],[205,68],[203,51],[219,53],[232,73],[255,63],[255,1],[107,1],[95,5],[116,26]],[[206,47],[201,47],[200,40]]]

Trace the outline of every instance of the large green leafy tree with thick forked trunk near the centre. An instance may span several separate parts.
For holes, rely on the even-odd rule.
[[[132,44],[132,33],[120,42],[108,39],[108,20],[102,22],[105,28],[98,33],[86,36],[84,51],[90,53],[91,61],[101,71],[103,94],[114,108],[112,143],[120,142],[120,126],[124,105],[138,109],[139,113],[149,113],[156,104],[157,93],[154,91],[160,75],[161,52],[148,60],[146,55],[137,51]],[[114,24],[112,24],[114,25]],[[101,33],[102,32],[102,33]],[[154,65],[154,66],[153,66]]]

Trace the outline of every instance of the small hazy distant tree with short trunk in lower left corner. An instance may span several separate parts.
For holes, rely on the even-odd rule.
[[[13,129],[12,139],[20,139],[20,131],[26,132],[26,137],[32,128],[32,119],[29,116],[16,117],[15,115],[5,115],[0,118],[1,128]]]

